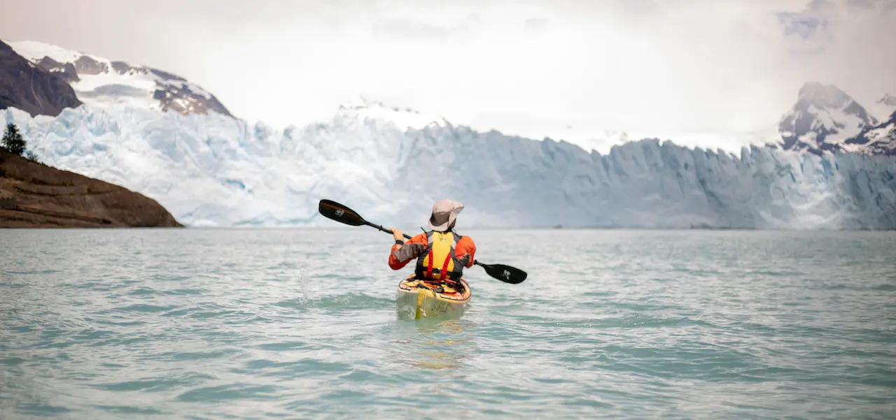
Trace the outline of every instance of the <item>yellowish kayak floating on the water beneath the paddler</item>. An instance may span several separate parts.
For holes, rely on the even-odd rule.
[[[419,281],[411,275],[395,291],[399,315],[412,319],[460,316],[473,294],[462,277],[461,284],[462,292],[444,283]]]

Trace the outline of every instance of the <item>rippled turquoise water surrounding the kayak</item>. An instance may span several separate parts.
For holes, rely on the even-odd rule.
[[[401,321],[369,228],[0,231],[0,418],[892,418],[896,232],[461,231]]]

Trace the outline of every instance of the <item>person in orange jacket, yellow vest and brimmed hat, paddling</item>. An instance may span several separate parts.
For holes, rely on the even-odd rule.
[[[457,214],[463,210],[459,201],[438,200],[429,216],[429,231],[404,241],[398,228],[392,228],[395,244],[389,254],[392,270],[401,270],[411,259],[417,258],[415,274],[421,280],[458,283],[463,267],[473,266],[476,244],[469,236],[453,231]]]

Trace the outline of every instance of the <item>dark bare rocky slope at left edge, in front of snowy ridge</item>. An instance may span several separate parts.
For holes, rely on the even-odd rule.
[[[80,105],[64,78],[35,66],[0,41],[0,109],[19,108],[32,117],[56,116]]]

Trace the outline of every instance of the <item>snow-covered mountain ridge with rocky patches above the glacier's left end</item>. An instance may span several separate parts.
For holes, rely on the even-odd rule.
[[[183,114],[211,111],[231,116],[211,93],[167,71],[35,41],[8,44],[40,68],[68,81],[78,98],[94,107],[129,105]]]

